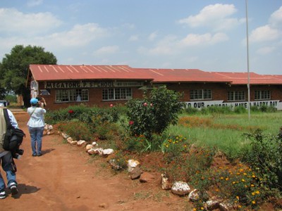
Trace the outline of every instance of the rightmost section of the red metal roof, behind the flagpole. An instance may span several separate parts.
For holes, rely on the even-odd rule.
[[[226,80],[231,80],[231,84],[247,84],[248,74],[247,72],[212,72],[214,75],[223,77]],[[282,84],[281,79],[271,75],[259,75],[255,72],[250,72],[250,84]]]

